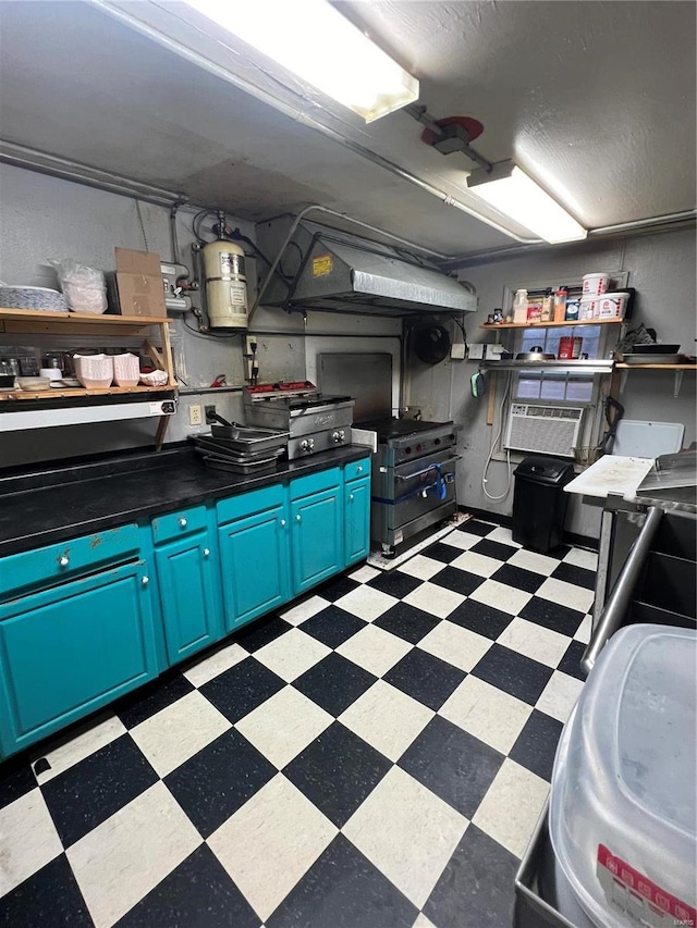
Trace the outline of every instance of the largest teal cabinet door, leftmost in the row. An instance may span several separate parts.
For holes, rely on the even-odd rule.
[[[12,754],[157,676],[135,561],[0,605],[0,741]]]

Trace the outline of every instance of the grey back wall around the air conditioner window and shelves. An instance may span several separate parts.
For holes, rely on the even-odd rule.
[[[632,325],[644,322],[657,330],[660,341],[678,342],[683,351],[695,352],[694,231],[589,242],[467,267],[460,276],[470,281],[479,296],[478,312],[467,318],[469,341],[494,341],[492,333],[480,332],[478,326],[494,307],[502,305],[505,286],[515,289],[543,281],[571,282],[595,270],[628,271],[628,285],[637,289]],[[492,431],[498,431],[499,420],[497,416],[494,426],[487,425],[486,398],[474,399],[470,395],[469,378],[476,370],[476,361],[449,360],[431,368],[413,360],[408,400],[424,406],[425,418],[454,418],[462,424],[463,461],[457,482],[461,504],[511,515],[512,490],[503,500],[492,502],[481,487]],[[695,441],[695,374],[685,373],[678,398],[673,397],[673,378],[670,372],[631,372],[621,399],[627,419],[684,423],[684,444],[688,445]],[[494,460],[488,478],[489,491],[493,495],[502,493],[505,463]],[[566,522],[570,531],[595,536],[598,525],[597,510],[572,502]]]

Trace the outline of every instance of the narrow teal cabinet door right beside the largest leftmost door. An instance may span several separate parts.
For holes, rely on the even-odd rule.
[[[170,664],[183,660],[222,634],[213,582],[216,567],[207,534],[156,548],[164,640]]]

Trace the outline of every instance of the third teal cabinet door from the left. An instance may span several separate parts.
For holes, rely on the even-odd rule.
[[[285,506],[222,525],[218,542],[229,631],[291,598]]]

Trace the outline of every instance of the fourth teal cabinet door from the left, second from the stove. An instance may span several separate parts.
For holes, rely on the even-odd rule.
[[[293,593],[302,593],[343,568],[341,487],[291,503]]]

